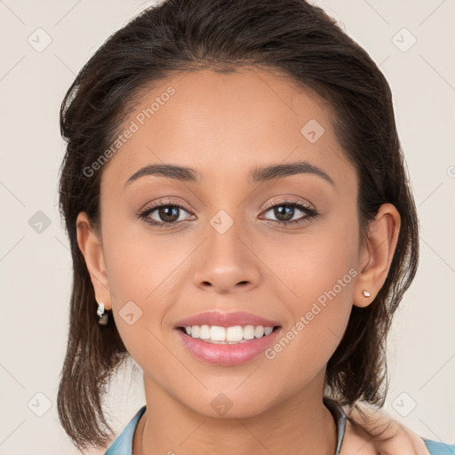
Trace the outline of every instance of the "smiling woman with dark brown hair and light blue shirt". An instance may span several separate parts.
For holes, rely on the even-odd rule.
[[[165,1],[93,55],[60,124],[78,448],[108,444],[131,356],[147,404],[109,455],[453,453],[356,407],[385,400],[418,220],[387,81],[323,10]]]

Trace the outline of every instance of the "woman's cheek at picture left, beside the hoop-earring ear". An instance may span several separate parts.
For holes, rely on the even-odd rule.
[[[164,362],[166,317],[179,300],[182,263],[195,247],[185,242],[178,248],[171,236],[141,231],[116,224],[103,229],[103,243],[116,327],[142,367],[144,359]]]

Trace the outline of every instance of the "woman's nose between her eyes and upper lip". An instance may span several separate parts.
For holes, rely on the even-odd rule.
[[[249,237],[240,223],[224,233],[208,225],[206,239],[196,251],[194,283],[205,291],[220,294],[249,291],[258,286],[260,260],[252,252]]]

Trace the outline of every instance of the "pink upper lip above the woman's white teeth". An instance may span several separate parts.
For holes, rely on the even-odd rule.
[[[244,311],[220,312],[205,311],[182,319],[176,323],[176,327],[188,327],[188,325],[217,325],[220,327],[233,327],[235,325],[262,325],[264,327],[275,327],[280,325],[276,321],[266,319],[259,315],[246,313]]]

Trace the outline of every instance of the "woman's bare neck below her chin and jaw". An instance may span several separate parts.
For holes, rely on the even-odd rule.
[[[216,419],[188,409],[144,375],[147,410],[134,434],[132,455],[333,455],[336,423],[323,405],[321,384],[315,384],[259,415]]]

